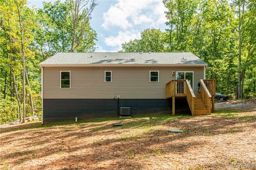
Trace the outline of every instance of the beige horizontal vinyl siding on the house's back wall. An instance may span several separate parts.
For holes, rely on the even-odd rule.
[[[44,99],[165,99],[172,71],[194,71],[194,91],[204,78],[204,67],[44,67]],[[60,71],[71,71],[71,88],[60,88]],[[112,71],[112,82],[105,82]],[[159,82],[149,81],[149,71],[159,71]]]

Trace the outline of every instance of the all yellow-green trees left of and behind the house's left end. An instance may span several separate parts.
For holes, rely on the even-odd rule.
[[[67,0],[30,9],[24,0],[0,0],[0,124],[41,115],[39,63],[57,52],[94,47],[97,35],[89,21],[95,5]]]

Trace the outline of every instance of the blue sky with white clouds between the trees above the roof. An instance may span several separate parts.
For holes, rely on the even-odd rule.
[[[42,7],[43,1],[54,2],[28,0],[28,4]],[[97,32],[98,52],[117,52],[122,43],[140,38],[140,32],[147,28],[166,28],[162,0],[98,0],[97,3],[90,22]]]

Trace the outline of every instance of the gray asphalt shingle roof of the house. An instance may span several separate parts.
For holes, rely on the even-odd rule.
[[[190,52],[179,53],[57,53],[43,61],[44,64],[204,64]]]

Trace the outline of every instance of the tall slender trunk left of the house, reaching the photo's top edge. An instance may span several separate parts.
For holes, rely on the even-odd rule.
[[[19,15],[19,24],[20,24],[20,33],[21,33],[21,52],[22,52],[22,89],[23,89],[23,119],[22,123],[25,123],[26,119],[26,88],[25,88],[25,51],[24,51],[24,38],[23,38],[23,28],[22,28],[22,22],[21,22],[21,17],[20,17],[20,10],[19,10],[19,4],[18,1],[16,0],[16,5],[17,5],[17,11]]]

